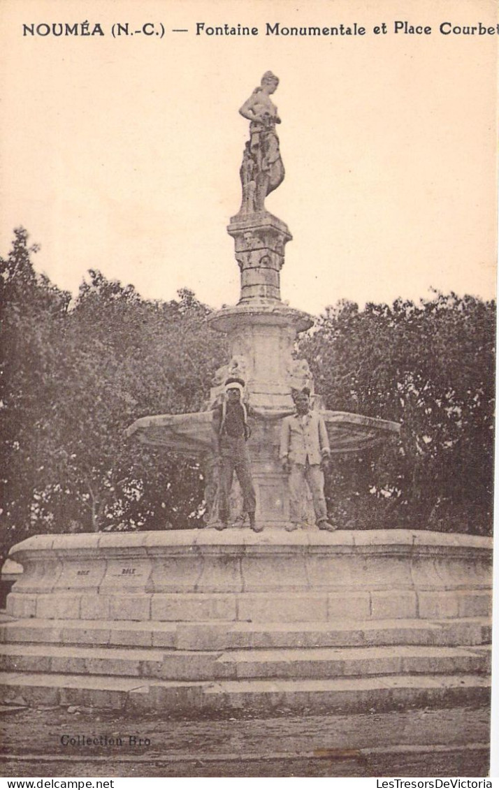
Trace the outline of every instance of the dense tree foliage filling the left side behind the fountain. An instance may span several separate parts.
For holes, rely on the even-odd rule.
[[[200,408],[226,357],[209,308],[187,289],[146,301],[92,270],[72,303],[34,273],[34,252],[21,228],[0,259],[4,547],[35,532],[193,525],[197,462],[124,430]]]

